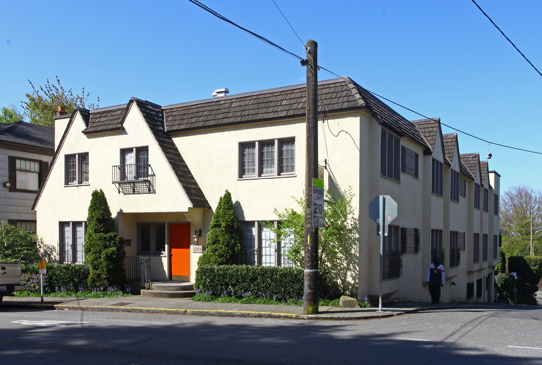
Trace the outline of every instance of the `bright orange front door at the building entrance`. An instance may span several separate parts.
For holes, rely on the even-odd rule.
[[[169,227],[171,280],[190,281],[190,223]]]

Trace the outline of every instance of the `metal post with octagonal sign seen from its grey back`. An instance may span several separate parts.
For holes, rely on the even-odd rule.
[[[369,203],[369,216],[377,225],[380,236],[380,269],[378,277],[378,311],[382,312],[382,261],[384,255],[384,236],[388,235],[388,225],[397,216],[397,203],[389,195],[378,195]]]

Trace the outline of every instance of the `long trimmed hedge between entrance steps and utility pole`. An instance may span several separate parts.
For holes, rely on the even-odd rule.
[[[279,302],[303,298],[302,268],[220,265],[199,266],[194,288],[217,297],[275,299]],[[326,285],[326,274],[320,273],[320,292]]]

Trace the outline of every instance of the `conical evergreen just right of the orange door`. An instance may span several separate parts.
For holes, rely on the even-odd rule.
[[[228,265],[236,261],[241,249],[241,228],[228,190],[218,200],[212,215],[205,252],[198,265]]]

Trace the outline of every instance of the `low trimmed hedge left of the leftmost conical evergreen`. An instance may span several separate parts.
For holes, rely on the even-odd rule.
[[[38,264],[21,265],[23,285],[30,292],[39,293],[41,288]],[[88,290],[87,265],[47,263],[47,274],[43,278],[43,292]]]

